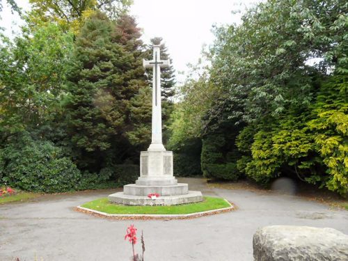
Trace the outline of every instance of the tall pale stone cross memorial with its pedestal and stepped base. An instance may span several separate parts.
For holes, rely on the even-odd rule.
[[[113,193],[109,200],[124,205],[177,205],[203,200],[200,191],[189,191],[188,184],[177,183],[173,176],[173,152],[162,143],[161,68],[171,65],[161,60],[159,45],[153,47],[152,61],[143,60],[145,68],[152,68],[152,139],[147,151],[140,155],[140,177],[136,184],[127,184],[123,192]],[[158,193],[158,198],[149,194]]]

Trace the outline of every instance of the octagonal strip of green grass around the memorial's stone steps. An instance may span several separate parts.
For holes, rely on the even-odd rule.
[[[126,206],[110,203],[107,198],[100,198],[81,205],[107,214],[191,214],[207,210],[230,207],[223,198],[204,197],[202,202],[173,206]]]

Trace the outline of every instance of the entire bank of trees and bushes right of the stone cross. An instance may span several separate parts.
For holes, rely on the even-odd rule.
[[[260,184],[287,175],[347,195],[347,10],[340,0],[269,0],[216,29],[212,65],[173,113],[173,147],[202,139],[209,177],[226,178],[227,146]]]

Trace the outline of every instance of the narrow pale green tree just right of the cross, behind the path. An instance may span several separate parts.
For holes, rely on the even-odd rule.
[[[180,90],[182,100],[174,104],[171,114],[168,149],[174,152],[174,166],[177,173],[175,175],[200,175],[201,139],[204,126],[208,122],[204,116],[209,111],[217,92],[209,83],[207,74],[200,75],[198,80],[189,78]],[[203,170],[207,164],[202,164]],[[207,176],[207,171],[203,173]]]

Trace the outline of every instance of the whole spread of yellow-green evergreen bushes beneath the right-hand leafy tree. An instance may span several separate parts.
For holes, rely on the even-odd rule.
[[[237,139],[245,153],[239,171],[260,184],[293,175],[347,195],[347,109],[347,81],[335,75],[322,83],[316,102],[301,113],[244,128]]]

